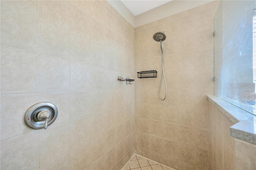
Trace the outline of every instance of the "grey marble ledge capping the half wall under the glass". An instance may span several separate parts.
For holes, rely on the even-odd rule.
[[[249,113],[219,97],[207,95],[211,101],[224,115],[235,125],[230,127],[230,135],[234,138],[256,144],[256,116]]]

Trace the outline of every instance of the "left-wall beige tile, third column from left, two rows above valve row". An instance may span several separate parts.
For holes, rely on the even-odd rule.
[[[81,1],[84,2],[84,1]],[[70,32],[70,61],[90,65],[90,41]]]

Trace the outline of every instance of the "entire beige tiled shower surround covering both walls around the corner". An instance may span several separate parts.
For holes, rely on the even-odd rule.
[[[159,168],[218,169],[223,155],[214,157],[211,127],[219,122],[206,98],[214,94],[217,7],[213,1],[134,28],[106,0],[1,0],[0,168],[121,170],[143,156],[150,167],[153,160]],[[167,35],[164,101],[152,38],[159,31]],[[146,70],[158,77],[136,77]],[[40,101],[59,111],[46,130],[23,121]],[[220,169],[234,165],[228,160]]]

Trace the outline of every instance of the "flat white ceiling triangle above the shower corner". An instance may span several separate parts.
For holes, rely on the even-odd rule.
[[[152,10],[170,1],[172,0],[121,0],[134,16]]]

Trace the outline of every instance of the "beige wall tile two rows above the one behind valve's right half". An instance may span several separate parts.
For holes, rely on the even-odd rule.
[[[68,31],[40,20],[39,40],[40,56],[69,60]]]

